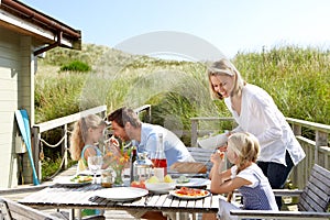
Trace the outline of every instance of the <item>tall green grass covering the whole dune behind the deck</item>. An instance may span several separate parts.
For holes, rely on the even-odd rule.
[[[64,61],[81,61],[92,70],[59,73]],[[283,46],[260,54],[241,53],[232,62],[248,82],[270,92],[286,117],[330,124],[329,52]],[[57,47],[40,61],[36,123],[101,105],[111,112],[122,106],[136,108],[145,103],[152,105],[152,123],[170,130],[190,131],[191,117],[230,116],[222,101],[210,99],[201,63],[132,56],[90,44],[81,52]],[[219,124],[219,130],[228,129],[224,127],[228,124]],[[53,143],[61,139],[44,135]],[[189,145],[190,138],[179,135]]]

